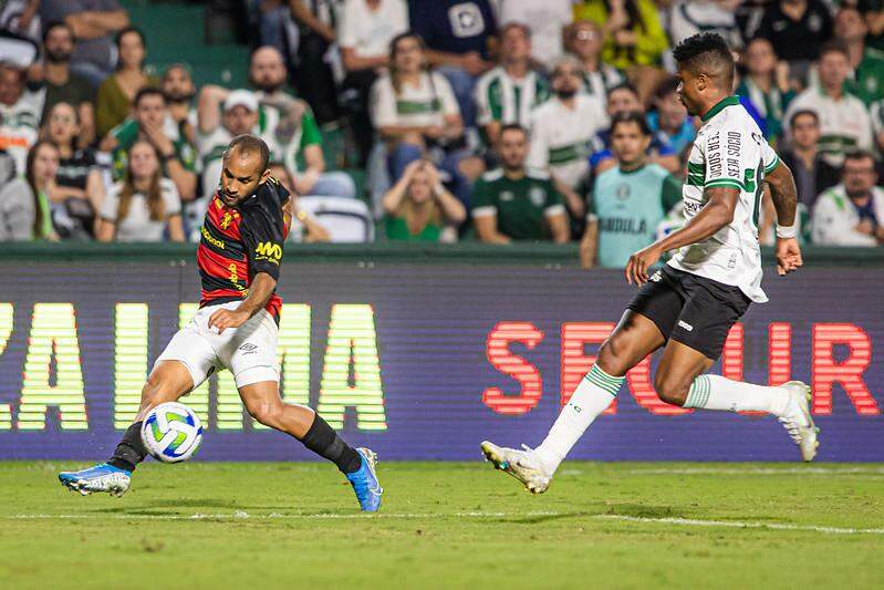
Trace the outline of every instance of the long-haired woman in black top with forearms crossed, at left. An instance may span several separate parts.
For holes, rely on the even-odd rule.
[[[43,133],[61,156],[55,188],[49,195],[55,205],[55,228],[61,238],[90,238],[95,214],[104,201],[104,184],[94,152],[76,148],[80,135],[76,110],[70,103],[56,103],[49,112]]]

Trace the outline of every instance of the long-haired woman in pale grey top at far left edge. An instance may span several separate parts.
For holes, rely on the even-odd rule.
[[[58,169],[59,149],[37,142],[28,152],[24,178],[0,188],[0,241],[58,239],[49,200]]]

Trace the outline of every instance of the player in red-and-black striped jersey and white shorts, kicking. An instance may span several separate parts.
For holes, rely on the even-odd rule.
[[[228,369],[252,417],[333,462],[352,484],[363,510],[379,508],[383,489],[375,475],[375,454],[354,449],[319,414],[285,404],[279,394],[277,340],[282,299],[275,288],[292,207],[289,192],[270,176],[269,157],[267,144],[258,137],[239,135],[230,142],[197,250],[200,309],[157,359],[142,390],[135,421],[114,455],[89,469],[59,474],[67,488],[83,495],[123,495],[147,455],[141,438],[145,415],[187,395],[216,369]]]

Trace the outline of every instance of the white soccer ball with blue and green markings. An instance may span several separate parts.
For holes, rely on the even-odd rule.
[[[184,404],[159,404],[144,418],[142,442],[150,456],[163,463],[189,459],[202,442],[199,416]]]

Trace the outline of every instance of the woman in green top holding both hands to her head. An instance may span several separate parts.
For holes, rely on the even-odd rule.
[[[454,241],[454,229],[467,218],[464,205],[439,182],[439,173],[427,161],[412,162],[405,174],[384,195],[384,225],[389,240]]]

